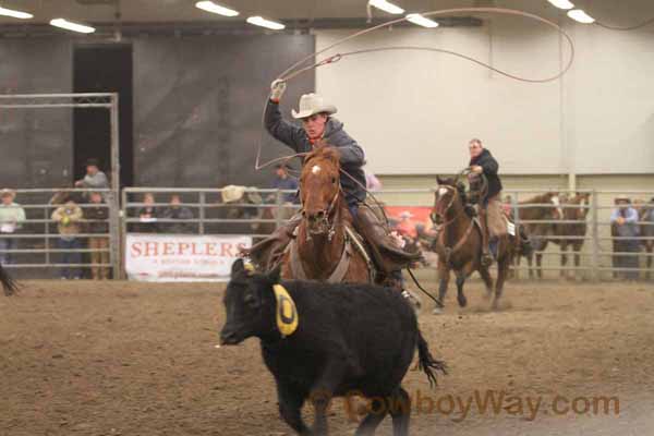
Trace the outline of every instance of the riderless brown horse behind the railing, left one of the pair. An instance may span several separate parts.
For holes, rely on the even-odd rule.
[[[543,278],[543,254],[537,253],[545,250],[547,246],[547,237],[553,235],[555,231],[554,222],[523,222],[523,221],[545,221],[557,220],[562,218],[562,209],[559,206],[558,192],[547,192],[536,195],[518,203],[518,222],[524,226],[526,234],[532,244],[533,252],[536,252],[536,274],[540,279]],[[534,253],[526,257],[529,264],[529,278],[534,277],[533,261]],[[516,265],[520,265],[521,256],[516,256]]]

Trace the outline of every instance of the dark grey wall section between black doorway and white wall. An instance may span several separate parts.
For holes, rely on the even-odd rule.
[[[143,38],[134,41],[134,173],[136,185],[268,185],[264,157],[289,149],[263,135],[269,84],[314,51],[308,35]],[[314,74],[294,80],[283,111],[314,88]]]

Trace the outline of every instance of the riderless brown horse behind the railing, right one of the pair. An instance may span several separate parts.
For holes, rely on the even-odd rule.
[[[556,239],[549,239],[550,242],[560,246],[561,251],[561,263],[565,267],[568,264],[568,246],[572,247],[574,253],[574,266],[581,265],[581,249],[584,243],[583,237],[586,233],[586,215],[589,214],[590,207],[589,202],[591,198],[590,193],[577,194],[573,197],[561,196],[561,209],[564,221],[577,221],[577,222],[560,222],[554,226],[553,235]],[[542,250],[547,246],[547,241]],[[542,255],[541,255],[542,256]],[[536,263],[540,263],[538,255],[536,255]],[[576,276],[576,274],[573,275]],[[569,277],[568,270],[561,269],[560,277]]]

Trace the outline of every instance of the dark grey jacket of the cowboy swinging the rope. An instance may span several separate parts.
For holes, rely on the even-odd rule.
[[[304,129],[286,121],[279,111],[279,104],[272,100],[268,100],[266,106],[264,125],[270,135],[294,149],[295,153],[307,153],[313,149]],[[325,125],[323,140],[329,146],[338,148],[341,169],[359,182],[355,183],[347,174],[341,173],[340,182],[348,204],[353,205],[365,201],[365,190],[363,189],[365,186],[365,174],[363,172],[365,155],[363,148],[346,133],[343,123],[332,117]]]

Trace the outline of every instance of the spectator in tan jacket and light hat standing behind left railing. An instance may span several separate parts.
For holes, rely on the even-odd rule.
[[[82,209],[75,202],[68,199],[63,206],[58,207],[52,213],[52,220],[57,222],[59,229],[58,247],[65,250],[61,256],[61,263],[64,265],[74,265],[82,263],[82,253],[70,252],[71,250],[80,250],[81,221],[84,218]],[[76,266],[64,266],[61,270],[62,279],[78,279],[81,277],[80,268]]]

